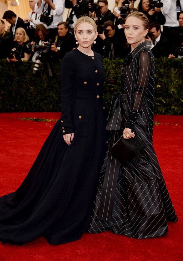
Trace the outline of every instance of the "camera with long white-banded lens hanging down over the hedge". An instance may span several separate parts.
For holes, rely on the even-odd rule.
[[[52,44],[53,44],[53,42],[51,39],[49,39],[49,41],[46,42],[44,45],[33,44],[31,49],[33,51],[40,51],[38,56],[36,57],[36,61],[35,61],[34,68],[33,68],[32,73],[34,75],[37,74],[41,61],[45,61],[46,66],[47,66],[48,77],[53,77],[52,69],[51,69],[51,66],[50,66],[50,63],[48,60],[48,54],[49,54],[49,51],[51,50]]]

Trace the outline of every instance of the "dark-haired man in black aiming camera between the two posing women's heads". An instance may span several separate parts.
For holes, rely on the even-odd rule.
[[[114,22],[107,21],[104,23],[104,31],[99,34],[99,37],[103,40],[103,45],[101,46],[100,54],[103,58],[125,58],[129,52],[124,29],[121,28],[116,30]]]

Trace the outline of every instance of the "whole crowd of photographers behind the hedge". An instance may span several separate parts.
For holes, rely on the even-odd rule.
[[[183,0],[140,0],[137,9],[133,0],[115,0],[113,12],[108,9],[107,0],[28,2],[32,11],[24,20],[12,11],[4,13],[2,19],[11,24],[8,32],[5,31],[4,21],[0,20],[0,59],[7,59],[8,62],[33,60],[34,74],[40,62],[44,61],[49,76],[52,76],[50,64],[77,47],[73,29],[82,15],[88,15],[96,22],[98,37],[94,50],[104,58],[125,58],[130,52],[124,33],[124,19],[134,10],[145,13],[150,20],[146,40],[151,42],[155,58],[183,57]],[[66,22],[62,18],[64,8],[71,9]]]

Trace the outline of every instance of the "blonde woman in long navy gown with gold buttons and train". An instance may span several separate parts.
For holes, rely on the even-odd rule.
[[[64,56],[62,117],[16,192],[0,198],[0,240],[23,244],[44,236],[51,244],[71,242],[88,230],[106,150],[106,109],[100,54],[92,51],[95,22],[75,25],[77,49]]]

